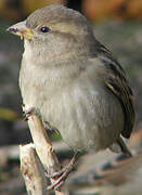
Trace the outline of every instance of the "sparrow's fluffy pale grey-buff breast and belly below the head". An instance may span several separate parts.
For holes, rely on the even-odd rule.
[[[69,72],[66,68],[54,72],[53,68],[40,69],[23,60],[20,87],[24,103],[36,107],[72,148],[99,151],[119,136],[124,113],[119,101],[104,89],[100,77],[99,81],[95,79],[99,74],[95,61],[86,63],[90,64],[82,70],[74,65]]]

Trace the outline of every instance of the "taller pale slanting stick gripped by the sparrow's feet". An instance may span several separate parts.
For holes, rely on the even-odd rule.
[[[24,107],[26,110],[26,107]],[[39,156],[41,164],[43,165],[48,174],[53,174],[56,171],[61,170],[61,165],[55,156],[50,139],[46,132],[43,123],[38,115],[33,112],[33,114],[28,117],[28,126],[34,140],[36,152]],[[56,179],[51,179],[51,183],[54,183]],[[67,191],[65,190],[54,190],[55,195],[67,195]]]

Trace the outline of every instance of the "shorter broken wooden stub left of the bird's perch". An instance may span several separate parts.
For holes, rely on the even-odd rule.
[[[48,195],[47,179],[34,144],[20,145],[21,171],[29,195]]]

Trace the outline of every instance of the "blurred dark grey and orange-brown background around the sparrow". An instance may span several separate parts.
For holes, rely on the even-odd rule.
[[[93,153],[83,155],[75,176],[68,181],[70,194],[141,195],[142,0],[0,0],[0,194],[26,194],[20,172],[18,144],[31,142],[27,123],[22,120],[22,99],[17,86],[23,41],[5,29],[35,10],[53,3],[65,4],[88,17],[94,26],[95,37],[113,51],[126,70],[135,95],[137,121],[128,143],[135,156],[121,164],[121,158],[117,160],[117,156],[107,151],[98,156]],[[63,150],[59,135],[51,133],[51,139],[57,144],[57,155],[62,162],[66,162],[73,152],[66,145]],[[98,182],[95,171],[103,169],[100,165],[107,159],[116,159],[119,169],[108,169],[107,176],[112,178],[103,174],[103,180]],[[92,169],[93,182],[89,182],[88,176]],[[82,182],[79,176],[88,177],[89,183],[86,180]]]

